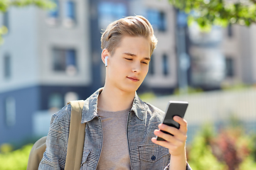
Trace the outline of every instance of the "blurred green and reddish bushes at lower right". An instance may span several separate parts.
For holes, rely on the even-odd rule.
[[[192,169],[256,169],[256,136],[247,135],[241,125],[239,120],[231,118],[218,134],[211,125],[203,127],[187,147]]]

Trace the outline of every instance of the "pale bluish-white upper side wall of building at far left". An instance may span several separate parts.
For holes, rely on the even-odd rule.
[[[36,8],[9,8],[9,33],[0,45],[0,92],[36,84]],[[11,56],[11,79],[4,79],[4,55]]]

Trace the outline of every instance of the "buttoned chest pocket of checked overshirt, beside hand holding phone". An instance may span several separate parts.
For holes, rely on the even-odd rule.
[[[139,145],[141,169],[164,169],[170,162],[169,149],[156,144]]]

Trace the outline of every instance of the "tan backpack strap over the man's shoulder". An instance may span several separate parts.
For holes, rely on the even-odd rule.
[[[81,166],[82,151],[85,141],[85,123],[81,123],[82,107],[84,103],[85,101],[70,101],[71,120],[65,170],[79,170]]]

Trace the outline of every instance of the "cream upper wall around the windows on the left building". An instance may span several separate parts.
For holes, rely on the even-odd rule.
[[[60,15],[63,9],[60,1]],[[38,55],[40,56],[40,84],[48,85],[89,85],[92,81],[90,72],[91,53],[90,53],[90,16],[89,1],[75,1],[76,22],[73,28],[63,26],[63,19],[60,24],[50,26],[47,23],[48,13],[38,10]],[[54,72],[53,66],[53,47],[74,48],[77,52],[79,72],[75,76],[68,76],[63,73]]]

